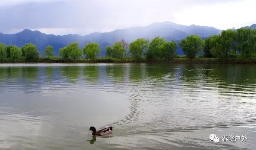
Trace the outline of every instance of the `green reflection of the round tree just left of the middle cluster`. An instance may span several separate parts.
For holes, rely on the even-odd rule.
[[[85,66],[84,76],[88,82],[98,82],[100,66]]]

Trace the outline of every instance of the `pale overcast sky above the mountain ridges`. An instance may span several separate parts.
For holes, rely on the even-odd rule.
[[[239,28],[256,23],[256,0],[0,0],[0,32],[86,35],[154,22]]]

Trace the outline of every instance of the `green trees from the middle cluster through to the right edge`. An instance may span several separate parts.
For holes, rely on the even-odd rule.
[[[112,47],[107,46],[106,55],[113,58],[123,58],[126,55],[123,41],[116,42]],[[256,57],[256,30],[253,29],[227,29],[220,35],[213,35],[205,40],[198,35],[189,35],[180,41],[180,47],[188,58],[195,58],[203,50],[204,57],[228,58],[231,55],[242,57]],[[177,56],[177,43],[156,37],[149,41],[139,38],[129,44],[132,58],[140,59],[172,59]]]

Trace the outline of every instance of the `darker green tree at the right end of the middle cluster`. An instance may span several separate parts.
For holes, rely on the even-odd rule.
[[[177,43],[175,43],[174,40],[170,41],[170,42],[166,42],[163,45],[163,58],[166,58],[168,60],[174,58],[175,56],[177,56]]]

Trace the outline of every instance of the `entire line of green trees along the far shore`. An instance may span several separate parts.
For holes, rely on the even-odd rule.
[[[253,29],[227,29],[220,35],[213,35],[204,40],[198,35],[189,35],[180,41],[166,41],[164,38],[156,37],[153,40],[139,38],[130,44],[124,40],[117,41],[113,46],[105,49],[107,58],[124,59],[128,58],[129,52],[132,59],[171,60],[177,58],[177,48],[181,47],[187,58],[255,58],[256,57],[256,30]],[[88,43],[83,49],[79,43],[70,43],[59,49],[59,59],[77,60],[82,58],[94,60],[99,57],[101,48],[98,43]],[[203,52],[203,56],[198,56]],[[5,60],[26,60],[33,61],[40,57],[40,52],[33,43],[28,43],[21,48],[13,45],[6,46],[0,43],[0,61]],[[47,46],[43,58],[56,59],[53,47]]]

